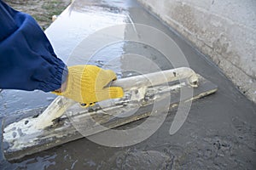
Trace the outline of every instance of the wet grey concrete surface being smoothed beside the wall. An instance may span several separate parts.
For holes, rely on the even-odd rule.
[[[85,37],[126,22],[154,26],[172,37],[190,67],[217,84],[218,92],[193,102],[189,117],[174,135],[169,134],[169,129],[175,110],[170,111],[156,133],[142,143],[113,148],[79,139],[20,161],[4,161],[1,156],[0,169],[255,169],[256,105],[224,77],[211,59],[200,54],[136,1],[75,1],[46,33],[56,54],[71,65],[73,59],[68,57]],[[118,77],[128,77],[131,72],[126,72],[123,65],[130,61],[122,58],[124,54],[143,55],[154,60],[162,70],[172,68],[163,54],[138,42],[116,42],[98,50],[92,59],[84,59],[84,63],[107,65]],[[54,97],[39,91],[3,90],[0,116],[49,105]],[[139,123],[133,122],[127,127]]]

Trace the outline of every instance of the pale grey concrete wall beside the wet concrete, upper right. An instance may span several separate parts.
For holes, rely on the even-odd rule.
[[[209,55],[256,102],[255,0],[138,0]]]

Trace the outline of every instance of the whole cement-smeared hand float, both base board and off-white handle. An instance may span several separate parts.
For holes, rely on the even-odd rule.
[[[8,161],[48,150],[60,144],[100,133],[150,116],[156,101],[170,98],[170,108],[213,94],[218,87],[187,67],[126,77],[110,86],[122,87],[122,99],[110,99],[89,108],[57,97],[48,108],[22,111],[5,118],[3,125],[3,154]],[[192,95],[180,97],[182,90]],[[135,110],[130,116],[120,116]],[[160,109],[160,108],[159,108]],[[93,120],[93,121],[92,121]],[[73,122],[76,126],[73,126]],[[79,127],[79,128],[78,128]],[[84,129],[83,135],[79,129]],[[84,135],[84,133],[86,135]]]

